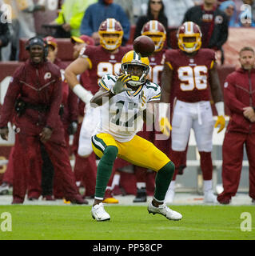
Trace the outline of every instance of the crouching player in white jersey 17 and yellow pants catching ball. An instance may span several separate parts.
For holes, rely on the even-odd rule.
[[[131,50],[122,58],[122,74],[104,76],[99,82],[101,89],[90,101],[92,106],[102,106],[101,121],[92,137],[94,152],[101,158],[91,210],[97,221],[110,220],[102,201],[117,157],[157,172],[149,213],[162,214],[170,220],[182,218],[164,203],[173,177],[173,162],[153,143],[136,135],[144,116],[153,120],[153,103],[159,102],[161,96],[160,86],[146,80],[148,73],[149,58],[141,58]]]

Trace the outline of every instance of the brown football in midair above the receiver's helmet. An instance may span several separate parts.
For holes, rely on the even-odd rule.
[[[133,41],[133,50],[137,54],[141,54],[141,57],[148,57],[153,54],[155,50],[155,45],[153,39],[147,37],[146,35],[141,35]]]

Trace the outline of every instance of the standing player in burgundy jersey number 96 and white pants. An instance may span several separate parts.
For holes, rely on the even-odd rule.
[[[185,150],[189,140],[189,131],[194,130],[197,149],[201,157],[201,170],[204,179],[204,202],[217,202],[212,189],[213,164],[213,113],[210,95],[217,109],[218,132],[225,127],[224,102],[216,70],[213,50],[201,48],[201,30],[193,22],[185,22],[177,32],[178,50],[168,50],[165,54],[165,66],[161,76],[160,123],[165,125],[171,88],[177,101],[173,106],[172,153],[171,159],[179,166],[180,152]],[[174,182],[165,196],[166,202],[173,202]]]

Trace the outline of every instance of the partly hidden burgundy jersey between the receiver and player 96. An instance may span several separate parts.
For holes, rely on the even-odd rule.
[[[165,50],[149,56],[149,80],[160,86],[161,72],[165,62]]]

